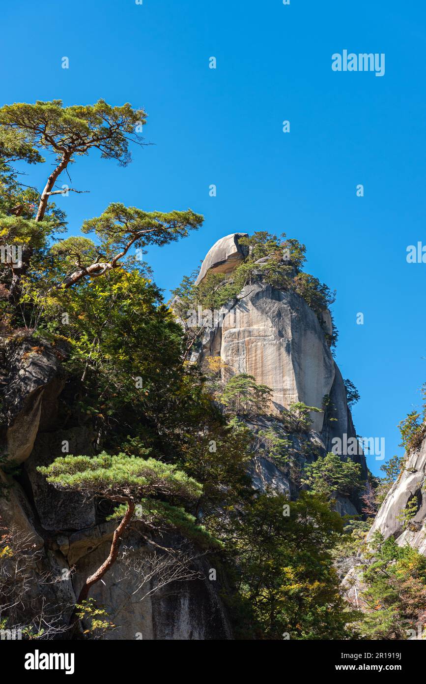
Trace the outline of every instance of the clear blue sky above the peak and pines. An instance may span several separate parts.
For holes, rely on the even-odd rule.
[[[337,289],[336,358],[361,394],[357,431],[384,436],[386,459],[399,453],[397,423],[426,380],[426,264],[406,263],[408,245],[426,244],[425,12],[418,0],[2,8],[3,103],[102,97],[149,114],[154,145],[134,149],[128,168],[97,153],[72,167],[74,187],[90,194],[59,200],[70,233],[110,201],[203,213],[201,231],[148,254],[166,295],[228,233],[285,231],[304,242],[309,272]],[[343,49],[385,53],[384,77],[333,72]],[[378,472],[380,462],[369,466]]]

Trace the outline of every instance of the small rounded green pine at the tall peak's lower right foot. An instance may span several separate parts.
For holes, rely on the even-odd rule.
[[[360,489],[360,471],[358,463],[329,452],[305,467],[302,483],[327,499],[348,497]]]

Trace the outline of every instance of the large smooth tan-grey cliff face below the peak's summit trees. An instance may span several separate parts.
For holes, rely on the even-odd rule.
[[[321,408],[335,381],[335,362],[315,313],[298,294],[270,285],[246,285],[235,304],[223,307],[200,352],[200,361],[220,355],[234,373],[268,385],[277,413],[293,402]],[[345,400],[342,414],[347,423]],[[312,419],[313,430],[321,432],[324,413]]]

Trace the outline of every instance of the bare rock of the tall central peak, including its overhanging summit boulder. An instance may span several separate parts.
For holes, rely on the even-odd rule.
[[[238,235],[228,235],[209,250],[203,261],[196,285],[216,267],[231,272],[243,255],[238,252]],[[227,258],[227,254],[232,256]],[[259,261],[265,261],[260,259]],[[191,360],[203,364],[206,358],[218,356],[223,361],[223,380],[233,373],[246,373],[272,390],[272,416],[302,402],[321,409],[311,412],[308,451],[325,454],[332,450],[333,440],[356,438],[343,378],[330,352],[327,334],[332,333],[328,309],[322,322],[307,302],[294,291],[272,287],[259,279],[246,285],[211,317]],[[256,425],[250,425],[256,432]],[[266,428],[267,426],[264,426]],[[291,436],[297,442],[297,436]],[[297,451],[297,446],[295,451]],[[305,444],[306,450],[306,444]],[[300,453],[302,454],[302,447]],[[315,458],[314,456],[312,458]],[[351,456],[361,466],[367,479],[367,465],[360,449]],[[300,456],[300,465],[304,456]],[[292,482],[285,469],[272,460],[255,456],[250,469],[253,484],[260,490],[272,488],[296,496],[300,484]],[[358,505],[358,502],[356,502]],[[342,515],[358,514],[354,502],[338,497],[337,510]]]

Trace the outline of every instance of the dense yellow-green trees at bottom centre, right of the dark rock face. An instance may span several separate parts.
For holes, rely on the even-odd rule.
[[[285,514],[288,507],[289,514]],[[225,521],[225,547],[235,568],[234,603],[243,638],[344,639],[354,619],[339,594],[331,549],[341,517],[307,492],[298,501],[259,495],[244,517]],[[235,599],[234,599],[235,601]]]

